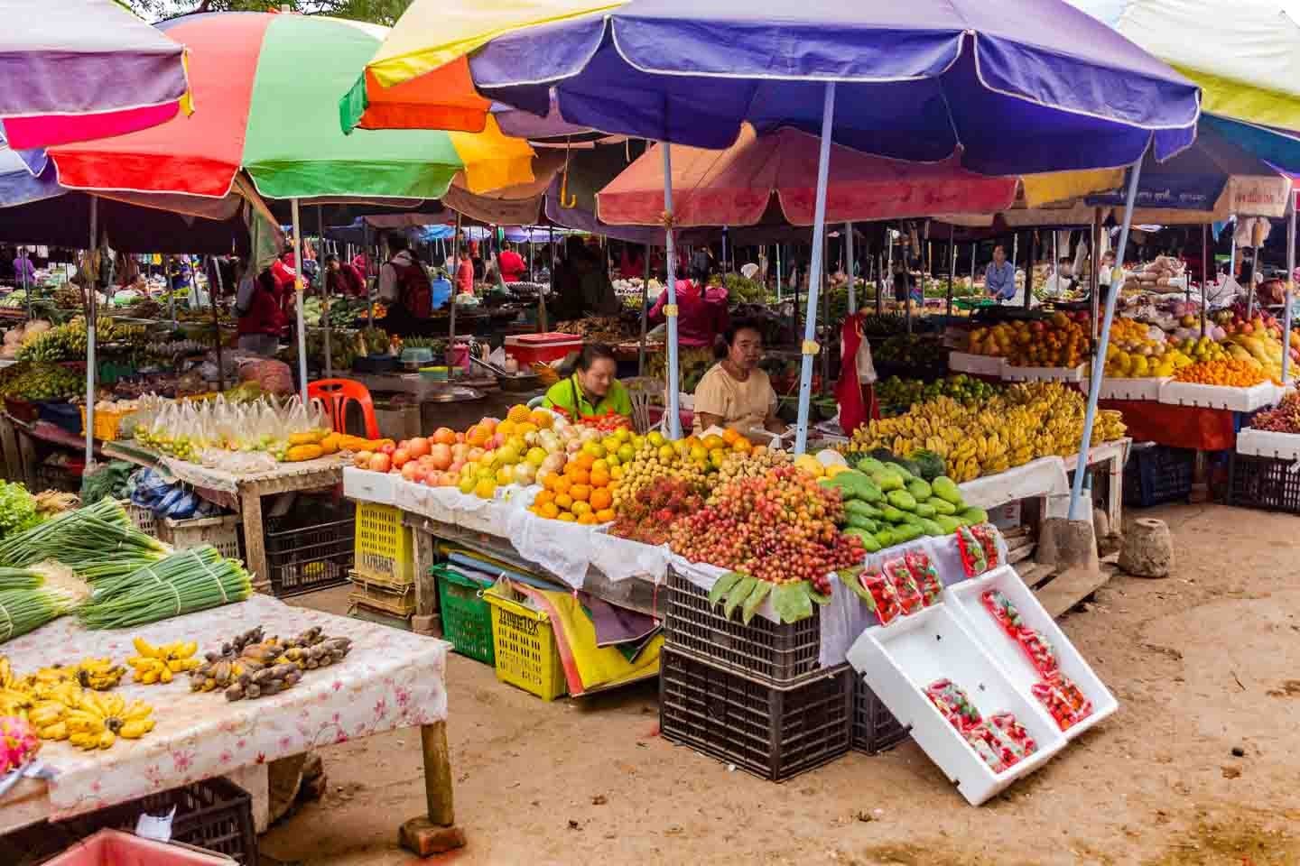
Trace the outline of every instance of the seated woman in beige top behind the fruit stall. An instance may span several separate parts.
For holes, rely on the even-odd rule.
[[[696,432],[710,427],[785,432],[776,417],[776,392],[767,373],[758,367],[763,358],[763,334],[753,322],[734,321],[723,335],[727,356],[715,364],[696,386]]]

